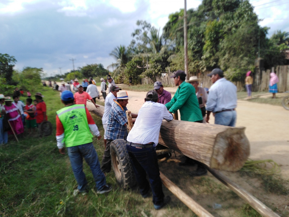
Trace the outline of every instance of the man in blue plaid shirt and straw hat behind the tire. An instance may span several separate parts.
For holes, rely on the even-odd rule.
[[[110,172],[111,170],[110,143],[115,139],[127,138],[127,116],[125,112],[127,111],[126,105],[128,104],[129,98],[127,91],[117,92],[117,98],[114,99],[114,104],[110,109],[108,125],[105,132],[106,148],[101,162],[101,171],[104,173]],[[131,113],[131,117],[136,118],[138,115]]]

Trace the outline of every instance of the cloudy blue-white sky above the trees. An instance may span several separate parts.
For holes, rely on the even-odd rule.
[[[288,0],[250,0],[260,25],[289,32]],[[187,0],[197,8],[200,0]],[[114,47],[129,45],[137,20],[163,28],[182,0],[0,0],[0,53],[17,60],[14,69],[43,68],[47,75],[92,63],[106,68]]]

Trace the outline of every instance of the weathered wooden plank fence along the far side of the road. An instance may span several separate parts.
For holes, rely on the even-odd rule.
[[[274,70],[274,68],[267,69],[266,71],[256,70],[257,72],[253,75],[252,91],[268,91],[270,73],[272,70]],[[279,92],[288,91],[289,90],[289,65],[277,66],[274,71],[279,78],[278,91]],[[206,71],[205,73],[200,73],[197,75],[198,78],[202,79],[200,81],[200,84],[203,83],[202,85],[203,87],[210,88],[212,86],[210,77],[207,76],[209,73],[210,71]],[[170,78],[171,75],[173,75],[173,73],[168,72],[168,73],[165,73],[164,76],[156,76],[155,79],[142,78],[142,84],[153,84],[155,81],[160,81],[165,87],[174,87],[175,84],[174,84],[173,78]],[[237,86],[238,91],[245,90],[244,81],[237,81],[233,83]]]

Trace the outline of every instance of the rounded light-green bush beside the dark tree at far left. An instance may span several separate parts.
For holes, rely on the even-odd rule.
[[[41,83],[42,68],[25,67],[22,71],[14,71],[13,80],[18,82],[18,87],[35,92]]]

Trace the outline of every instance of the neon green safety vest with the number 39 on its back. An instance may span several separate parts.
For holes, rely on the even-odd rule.
[[[79,146],[92,142],[84,104],[64,107],[56,112],[64,128],[66,147]]]

